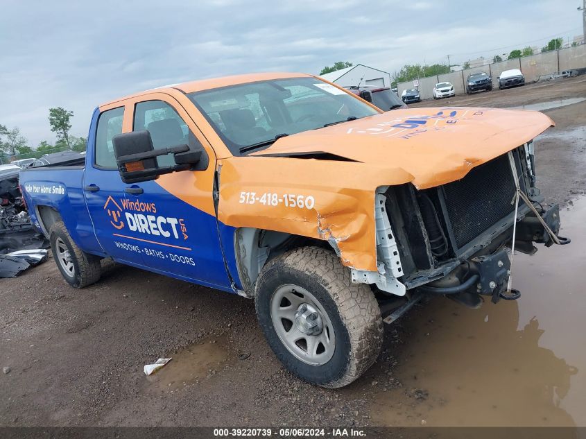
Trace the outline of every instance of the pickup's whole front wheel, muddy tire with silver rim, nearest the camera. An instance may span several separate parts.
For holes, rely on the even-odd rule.
[[[377,300],[367,285],[352,283],[332,252],[306,247],[276,257],[259,276],[255,301],[271,349],[305,381],[346,386],[379,355]]]

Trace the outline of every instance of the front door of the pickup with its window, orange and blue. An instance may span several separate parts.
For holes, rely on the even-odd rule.
[[[212,149],[204,146],[205,139],[187,112],[170,96],[157,94],[150,101],[134,104],[133,130],[149,130],[155,149],[178,144],[203,148],[205,158],[199,167],[205,169],[161,175],[133,185],[143,191],[126,193],[128,237],[141,246],[143,264],[148,268],[223,289],[230,287],[212,198]],[[160,166],[174,164],[173,155],[158,160]]]

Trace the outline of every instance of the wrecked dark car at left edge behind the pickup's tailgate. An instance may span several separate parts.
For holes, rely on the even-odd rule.
[[[0,277],[14,277],[46,259],[46,240],[33,227],[19,189],[20,167],[0,165]]]

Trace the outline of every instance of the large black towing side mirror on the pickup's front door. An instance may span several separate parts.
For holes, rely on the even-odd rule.
[[[114,155],[120,177],[125,183],[156,180],[159,175],[186,171],[199,162],[201,151],[191,151],[187,145],[155,149],[148,130],[132,131],[112,138]],[[159,166],[157,157],[174,154],[175,166]]]

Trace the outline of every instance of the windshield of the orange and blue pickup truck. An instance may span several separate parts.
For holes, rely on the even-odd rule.
[[[378,114],[317,78],[266,80],[187,96],[233,155],[266,148],[284,135]]]

